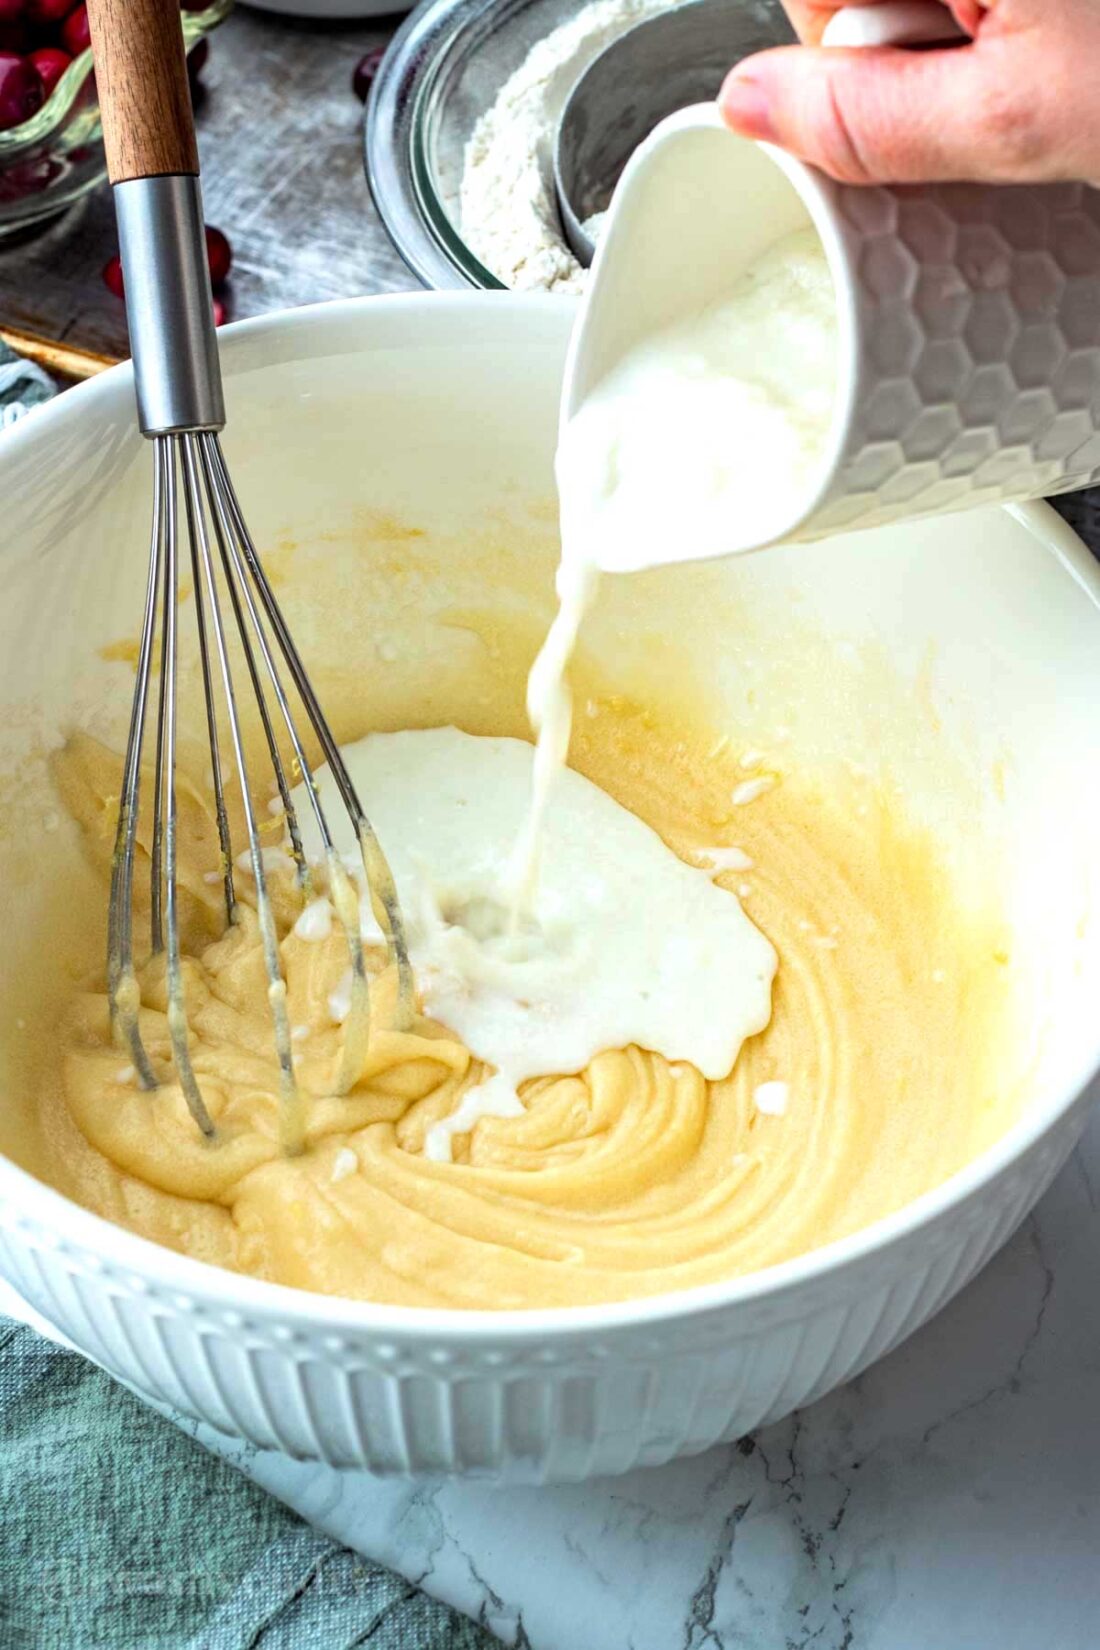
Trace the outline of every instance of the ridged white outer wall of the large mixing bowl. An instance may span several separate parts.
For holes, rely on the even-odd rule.
[[[567,1482],[689,1455],[778,1421],[897,1346],[1009,1238],[1072,1152],[1085,1097],[955,1209],[778,1297],[543,1345],[247,1317],[0,1206],[0,1270],[114,1374],[261,1447],[378,1473]],[[369,1308],[366,1308],[369,1312]],[[505,1330],[516,1318],[501,1318]]]

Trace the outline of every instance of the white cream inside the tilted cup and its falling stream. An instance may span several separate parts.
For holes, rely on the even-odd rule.
[[[836,384],[833,279],[813,229],[778,241],[729,295],[630,350],[566,421],[557,447],[559,609],[528,681],[538,736],[513,855],[511,929],[538,879],[551,787],[569,752],[567,670],[600,573],[663,566],[668,546],[721,556],[754,512],[820,469]]]

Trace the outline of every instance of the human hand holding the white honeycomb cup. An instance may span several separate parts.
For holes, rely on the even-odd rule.
[[[1097,0],[950,0],[973,40],[928,51],[821,48],[851,0],[783,3],[803,45],[745,58],[719,94],[744,137],[844,183],[1100,185]]]

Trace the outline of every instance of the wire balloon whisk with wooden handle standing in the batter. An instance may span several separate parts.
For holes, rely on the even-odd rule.
[[[139,1082],[143,1089],[155,1089],[160,1077],[140,1030],[134,939],[142,771],[148,769],[152,759],[150,949],[153,955],[163,955],[167,1023],[176,1081],[196,1125],[213,1140],[214,1124],[191,1063],[180,952],[180,582],[190,578],[226,922],[239,919],[234,842],[226,807],[226,776],[231,772],[239,790],[267,974],[282,1142],[287,1150],[295,1152],[303,1140],[303,1117],[279,931],[257,820],[256,799],[262,792],[256,789],[256,776],[249,772],[246,756],[241,681],[246,681],[246,691],[256,700],[285,820],[287,848],[302,894],[312,898],[315,889],[292,800],[295,784],[305,787],[323,848],[327,894],[346,936],[351,1010],[345,1021],[338,1087],[346,1089],[355,1081],[369,1031],[360,893],[336,851],[336,838],[320,804],[303,736],[295,721],[295,698],[330,766],[358,843],[366,888],[384,917],[391,957],[397,967],[401,1020],[407,1020],[412,1005],[409,954],[386,858],[264,573],[218,439],[226,414],[178,0],[89,0],[87,12],[119,221],[139,424],[153,446],[148,582],[110,874],[110,1018],[117,1038],[130,1051]],[[181,551],[183,544],[186,553]]]

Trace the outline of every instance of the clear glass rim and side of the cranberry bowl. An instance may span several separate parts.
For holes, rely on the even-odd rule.
[[[228,15],[233,0],[183,12],[188,50]],[[41,109],[0,132],[0,236],[64,211],[107,175],[91,50],[68,66]]]

